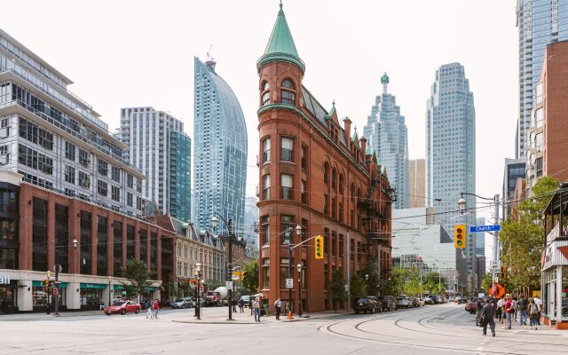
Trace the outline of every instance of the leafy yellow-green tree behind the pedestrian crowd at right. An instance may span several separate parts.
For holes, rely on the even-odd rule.
[[[540,177],[533,186],[533,197],[518,205],[517,219],[509,217],[501,225],[501,264],[508,267],[509,272],[508,280],[500,280],[500,283],[508,283],[509,288],[540,284],[544,209],[557,188],[554,178]]]

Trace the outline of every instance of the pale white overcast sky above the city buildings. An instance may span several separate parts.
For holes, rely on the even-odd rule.
[[[517,120],[515,0],[284,0],[305,62],[304,86],[348,116],[359,135],[382,92],[380,76],[406,116],[412,159],[425,152],[426,100],[436,69],[460,62],[473,92],[477,191],[502,191],[504,159],[514,157]],[[256,60],[279,0],[4,2],[4,31],[75,83],[68,87],[120,125],[123,106],[154,106],[193,136],[193,56],[217,61],[248,125],[247,195],[258,184]],[[459,196],[456,196],[456,201]],[[485,210],[480,213],[490,214]]]

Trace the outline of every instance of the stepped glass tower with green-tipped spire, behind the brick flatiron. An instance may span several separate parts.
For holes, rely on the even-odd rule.
[[[405,117],[400,114],[395,96],[387,91],[389,76],[381,77],[383,94],[375,97],[375,105],[367,117],[363,137],[367,138],[369,152],[377,154],[379,163],[387,171],[390,185],[397,192],[395,209],[408,208],[410,182],[408,176],[408,130]]]

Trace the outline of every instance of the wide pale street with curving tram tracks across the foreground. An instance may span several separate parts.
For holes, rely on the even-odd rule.
[[[159,319],[146,319],[144,313],[86,314],[0,318],[0,353],[568,353],[568,334],[545,327],[506,331],[499,324],[497,336],[486,337],[475,327],[474,316],[457,304],[367,315],[327,313],[295,322],[271,317],[260,324],[251,322],[247,309],[236,315],[238,324],[228,324],[225,307],[205,308],[202,319],[207,324],[185,323],[193,321],[193,309],[163,311]]]

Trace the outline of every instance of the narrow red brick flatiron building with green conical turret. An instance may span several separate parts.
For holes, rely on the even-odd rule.
[[[326,288],[335,270],[346,278],[348,263],[352,273],[365,269],[368,260],[379,262],[383,277],[390,270],[392,189],[375,154],[367,154],[367,140],[356,131],[351,135],[349,118],[342,127],[335,103],[327,111],[304,87],[304,62],[281,4],[257,69],[259,288],[264,302],[286,302],[290,277],[294,312],[300,292],[304,311],[328,310]],[[294,232],[288,235],[290,227]],[[316,235],[324,237],[323,259],[315,258],[310,239]],[[307,241],[294,249],[291,261],[288,240]],[[300,275],[297,264],[303,265]]]

